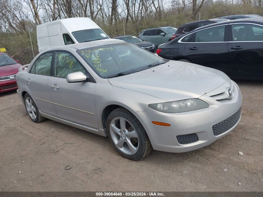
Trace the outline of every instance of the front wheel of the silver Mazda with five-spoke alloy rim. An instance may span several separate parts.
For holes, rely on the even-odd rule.
[[[110,143],[127,159],[134,161],[142,159],[152,150],[152,144],[143,125],[129,110],[124,108],[113,110],[107,118],[106,129]]]

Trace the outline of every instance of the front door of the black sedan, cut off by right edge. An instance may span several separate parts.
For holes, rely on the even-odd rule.
[[[251,23],[230,25],[229,76],[263,77],[263,26]]]

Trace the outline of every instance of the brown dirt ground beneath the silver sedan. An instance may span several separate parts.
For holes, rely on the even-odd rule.
[[[108,138],[52,120],[32,122],[16,91],[3,93],[0,191],[263,191],[263,82],[236,82],[242,120],[232,133],[195,151],[152,151],[136,162]]]

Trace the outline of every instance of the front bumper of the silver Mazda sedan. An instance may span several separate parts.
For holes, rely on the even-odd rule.
[[[231,100],[216,101],[206,95],[199,97],[199,99],[207,102],[209,107],[182,113],[162,113],[151,108],[143,112],[134,112],[143,124],[154,150],[188,152],[202,148],[230,133],[239,123],[241,113],[238,117],[236,117],[236,113],[242,106],[242,94],[237,84],[235,84],[235,96]],[[223,133],[214,135],[213,126],[226,119],[229,120],[229,117],[233,117],[233,115],[236,118],[235,124],[232,124],[231,128],[226,127],[227,130]],[[152,121],[169,123],[171,126],[158,126],[152,124]],[[180,136],[184,136],[185,139],[194,139],[195,142],[187,143],[187,140],[180,139]],[[186,144],[182,144],[182,142],[186,142]]]

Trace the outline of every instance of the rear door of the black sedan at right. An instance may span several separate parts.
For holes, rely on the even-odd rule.
[[[185,46],[193,63],[228,74],[228,25],[196,31]]]

